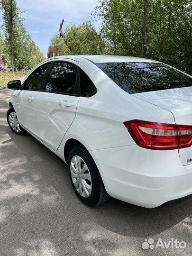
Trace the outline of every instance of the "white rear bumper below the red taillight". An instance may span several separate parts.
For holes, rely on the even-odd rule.
[[[192,165],[177,150],[123,146],[90,151],[110,196],[154,208],[192,194]]]

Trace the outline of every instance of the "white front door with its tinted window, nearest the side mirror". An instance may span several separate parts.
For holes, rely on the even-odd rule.
[[[37,134],[35,101],[49,64],[50,63],[37,67],[37,69],[27,77],[22,85],[22,90],[17,96],[19,102],[17,106],[19,123],[34,134]]]

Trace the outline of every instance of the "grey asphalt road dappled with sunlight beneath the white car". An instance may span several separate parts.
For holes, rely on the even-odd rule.
[[[83,205],[64,162],[10,130],[9,95],[0,91],[0,256],[192,255],[192,201],[151,210],[112,198]],[[154,245],[174,238],[186,247],[144,250],[146,238]]]

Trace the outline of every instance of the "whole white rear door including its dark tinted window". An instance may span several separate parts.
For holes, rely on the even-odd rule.
[[[79,66],[73,60],[55,61],[36,98],[37,136],[57,150],[72,124],[80,99]]]

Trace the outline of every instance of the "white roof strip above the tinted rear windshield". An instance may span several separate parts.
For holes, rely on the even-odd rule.
[[[155,60],[129,57],[129,56],[117,56],[117,55],[76,55],[77,57],[85,58],[92,63],[106,63],[106,62],[158,62]]]

